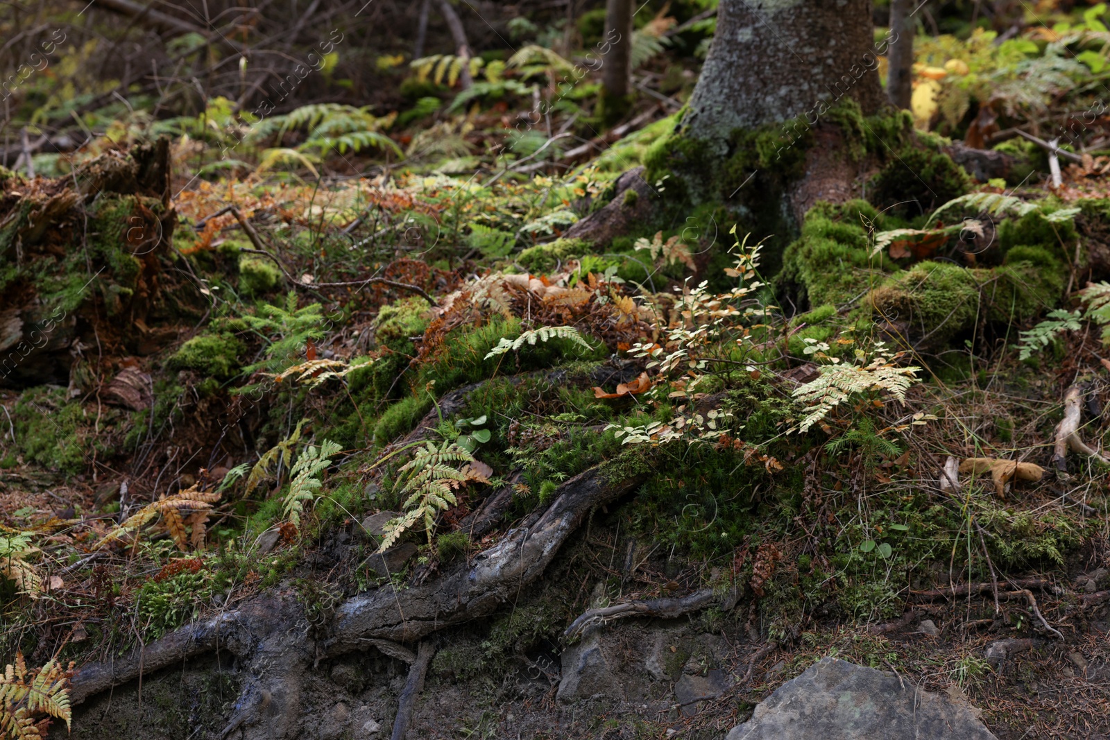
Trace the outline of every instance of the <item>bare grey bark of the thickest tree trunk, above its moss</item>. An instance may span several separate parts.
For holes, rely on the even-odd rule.
[[[683,123],[727,151],[737,129],[805,116],[847,97],[865,114],[882,104],[870,0],[720,0],[717,33]]]

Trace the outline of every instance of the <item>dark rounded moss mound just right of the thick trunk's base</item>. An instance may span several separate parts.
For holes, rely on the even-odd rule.
[[[915,216],[968,192],[971,180],[947,154],[902,149],[868,186],[871,202],[892,212]]]

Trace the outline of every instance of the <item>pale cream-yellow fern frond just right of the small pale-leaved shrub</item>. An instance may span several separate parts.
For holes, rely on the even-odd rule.
[[[809,406],[806,418],[798,425],[800,432],[824,420],[829,412],[852,396],[886,391],[906,403],[906,392],[918,381],[915,373],[921,368],[896,366],[894,363],[902,353],[887,356],[881,343],[877,343],[876,352],[866,365],[823,365],[819,377],[795,389],[794,397]]]

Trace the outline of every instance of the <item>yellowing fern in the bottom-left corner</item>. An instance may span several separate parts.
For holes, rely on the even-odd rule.
[[[16,653],[16,663],[8,665],[0,673],[0,740],[40,740],[47,737],[47,714],[65,720],[70,729],[72,711],[69,701],[69,682],[73,663],[63,669],[50,659],[38,670],[28,670],[23,653]]]

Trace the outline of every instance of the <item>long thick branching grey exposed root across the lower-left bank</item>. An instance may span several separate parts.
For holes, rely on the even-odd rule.
[[[336,612],[332,637],[323,642],[307,636],[295,599],[260,598],[171,632],[120,660],[82,668],[72,681],[72,703],[143,673],[226,649],[244,661],[248,678],[220,737],[242,729],[243,738],[251,740],[289,738],[297,727],[304,671],[323,658],[375,647],[413,666],[397,716],[397,722],[407,726],[433,648],[425,641],[414,657],[397,642],[420,640],[509,601],[543,574],[592,509],[633,490],[645,476],[617,476],[601,468],[582,473],[559,486],[535,524],[511,530],[470,565],[461,564],[430,584],[403,591],[385,586],[349,600]]]

